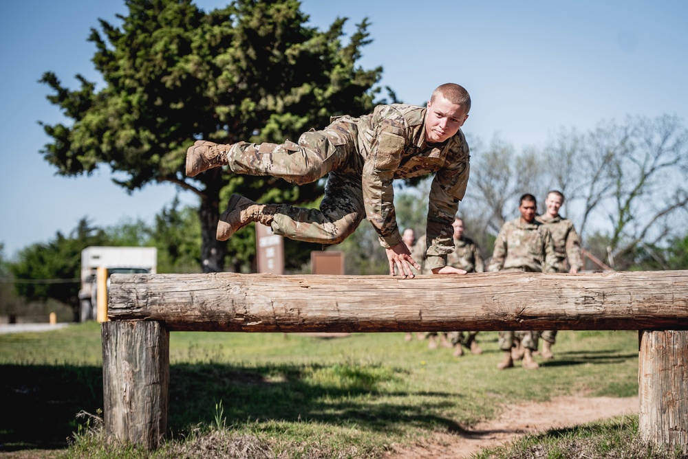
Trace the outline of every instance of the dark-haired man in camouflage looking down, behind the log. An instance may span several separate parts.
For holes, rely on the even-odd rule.
[[[557,272],[559,267],[552,234],[545,225],[535,220],[537,200],[533,194],[522,195],[518,209],[521,216],[504,223],[502,229],[499,229],[488,271]],[[515,344],[515,333],[499,332],[499,348],[504,351],[502,361],[497,363],[499,370],[514,366],[511,348]],[[533,360],[533,352],[537,350],[538,333],[518,333],[524,347],[522,366],[529,370],[539,368]]]

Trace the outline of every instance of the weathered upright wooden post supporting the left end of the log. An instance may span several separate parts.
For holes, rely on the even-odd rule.
[[[160,322],[103,322],[105,440],[158,447],[167,430],[169,331]]]

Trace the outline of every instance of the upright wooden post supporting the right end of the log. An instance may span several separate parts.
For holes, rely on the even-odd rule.
[[[688,453],[688,331],[641,331],[641,438]]]

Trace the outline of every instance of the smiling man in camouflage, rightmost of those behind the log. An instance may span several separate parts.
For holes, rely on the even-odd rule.
[[[559,215],[559,209],[563,204],[563,193],[552,190],[547,193],[545,199],[545,213],[535,217],[535,220],[544,223],[545,227],[552,233],[552,240],[555,243],[555,253],[559,264],[560,273],[577,273],[583,268],[581,259],[581,240],[578,237],[573,223]],[[566,260],[568,259],[568,269]],[[542,338],[542,352],[544,359],[553,359],[552,346],[557,341],[557,331],[548,330],[540,333]]]

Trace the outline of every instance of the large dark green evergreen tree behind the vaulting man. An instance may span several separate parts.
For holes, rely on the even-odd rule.
[[[294,186],[272,177],[208,170],[184,175],[195,139],[218,143],[297,140],[331,115],[372,110],[382,69],[356,65],[369,43],[367,21],[342,43],[346,19],[328,30],[308,27],[297,0],[237,0],[203,12],[191,0],[127,0],[121,24],[100,20],[89,41],[105,85],[77,75],[80,89],[47,72],[48,99],[71,124],[44,124],[41,153],[62,175],[108,164],[128,191],[169,181],[200,198],[201,265],[222,271],[226,243],[215,240],[220,202],[239,192],[257,201],[310,203],[322,181]],[[244,238],[241,238],[241,236]],[[237,254],[255,251],[248,232],[230,240]],[[240,263],[237,260],[236,263]],[[233,270],[239,265],[233,261]]]

